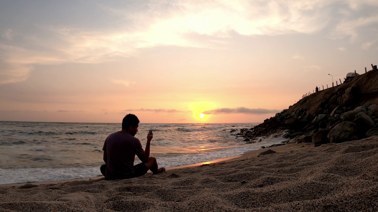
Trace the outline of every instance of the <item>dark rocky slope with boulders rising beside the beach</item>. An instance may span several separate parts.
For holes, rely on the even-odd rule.
[[[324,143],[378,135],[378,70],[349,79],[305,98],[251,129],[235,134],[254,143],[257,137],[283,133],[286,143]]]

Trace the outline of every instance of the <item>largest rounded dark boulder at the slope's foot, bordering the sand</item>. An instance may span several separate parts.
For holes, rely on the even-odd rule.
[[[327,137],[332,143],[354,141],[358,139],[358,127],[355,123],[344,121],[331,129]]]

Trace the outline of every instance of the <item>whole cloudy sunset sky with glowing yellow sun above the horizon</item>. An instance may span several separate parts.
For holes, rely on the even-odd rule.
[[[377,65],[377,11],[376,0],[0,0],[0,121],[259,123]]]

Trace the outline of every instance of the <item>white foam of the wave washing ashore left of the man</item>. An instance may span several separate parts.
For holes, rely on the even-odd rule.
[[[0,185],[70,180],[101,175],[100,167],[0,169]]]

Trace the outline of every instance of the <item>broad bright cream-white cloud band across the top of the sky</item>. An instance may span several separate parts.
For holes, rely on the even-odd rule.
[[[135,56],[139,49],[155,46],[218,49],[227,46],[229,42],[225,39],[235,33],[246,36],[313,34],[331,28],[333,37],[355,39],[361,27],[378,23],[378,14],[361,12],[365,8],[374,11],[378,7],[376,2],[147,0],[117,6],[99,5],[101,12],[92,15],[112,20],[109,26],[98,24],[89,28],[69,21],[42,25],[32,19],[28,22],[31,23],[29,33],[16,29],[5,29],[1,33],[5,40],[0,40],[3,53],[0,53],[0,66],[11,68],[2,68],[0,74],[6,77],[2,77],[0,83],[26,80],[34,65],[103,63]],[[335,15],[334,8],[342,8],[344,12]],[[119,83],[130,86],[130,82]]]

